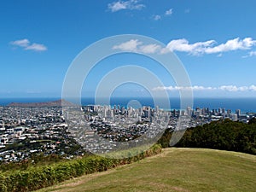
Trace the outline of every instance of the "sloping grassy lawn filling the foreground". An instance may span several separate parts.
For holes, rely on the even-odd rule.
[[[38,191],[256,191],[256,156],[166,148],[154,157]]]

